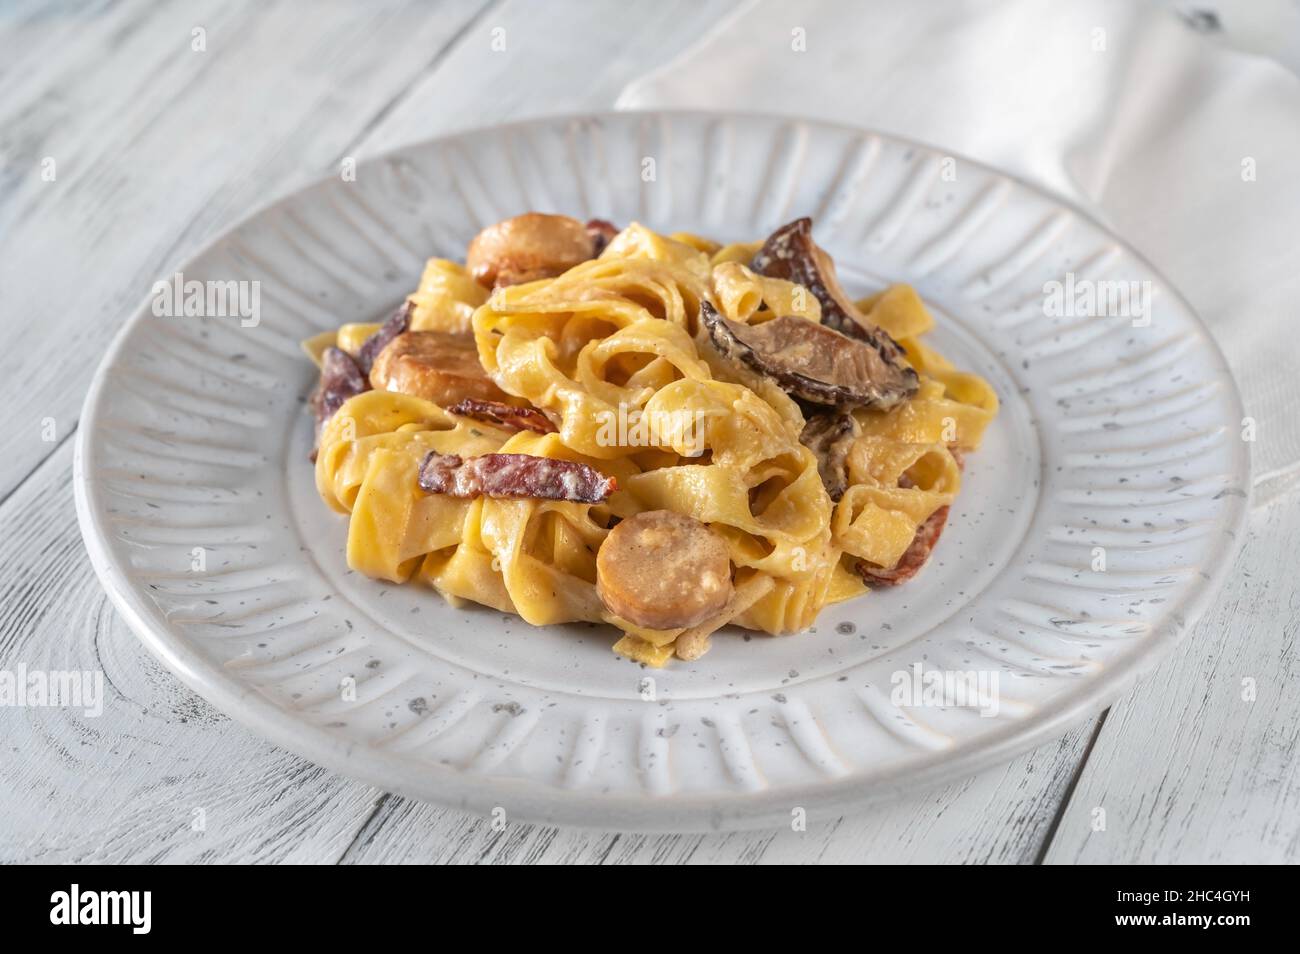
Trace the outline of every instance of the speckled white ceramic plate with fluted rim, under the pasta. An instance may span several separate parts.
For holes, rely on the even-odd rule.
[[[526,209],[720,239],[811,214],[850,286],[915,285],[937,346],[1002,399],[931,565],[814,632],[723,634],[662,671],[615,656],[604,628],[533,629],[348,572],[307,463],[298,341],[384,315],[425,257]],[[1150,282],[1149,325],[1048,317],[1044,285],[1067,273]],[[276,742],[512,820],[788,824],[1005,760],[1178,639],[1247,509],[1236,390],[1178,292],[1060,200],[887,135],[693,113],[482,130],[291,195],[183,276],[260,282],[260,324],[144,307],[104,359],[75,483],[108,593],[182,680]],[[997,672],[997,715],[896,704],[915,663]]]

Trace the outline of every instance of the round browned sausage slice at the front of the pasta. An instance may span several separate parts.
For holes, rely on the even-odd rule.
[[[637,513],[601,545],[595,589],[611,612],[638,626],[698,625],[731,599],[727,545],[694,517],[666,509]]]

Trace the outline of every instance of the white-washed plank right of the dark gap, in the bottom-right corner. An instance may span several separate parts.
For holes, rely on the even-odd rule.
[[[1213,610],[1114,706],[1048,863],[1300,860],[1297,504],[1291,494],[1252,513]]]

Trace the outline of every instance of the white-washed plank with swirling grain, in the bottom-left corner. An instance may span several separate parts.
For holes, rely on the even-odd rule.
[[[5,504],[0,668],[101,672],[103,714],[0,707],[0,862],[338,858],[377,793],[256,738],[144,650],[91,572],[70,465],[65,446]]]

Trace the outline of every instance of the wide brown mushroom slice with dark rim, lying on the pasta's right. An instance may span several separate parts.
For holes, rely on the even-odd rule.
[[[916,391],[911,368],[892,365],[870,344],[807,318],[784,315],[745,325],[724,318],[708,302],[701,302],[699,317],[724,357],[815,404],[889,408]],[[910,387],[902,370],[911,376]]]

